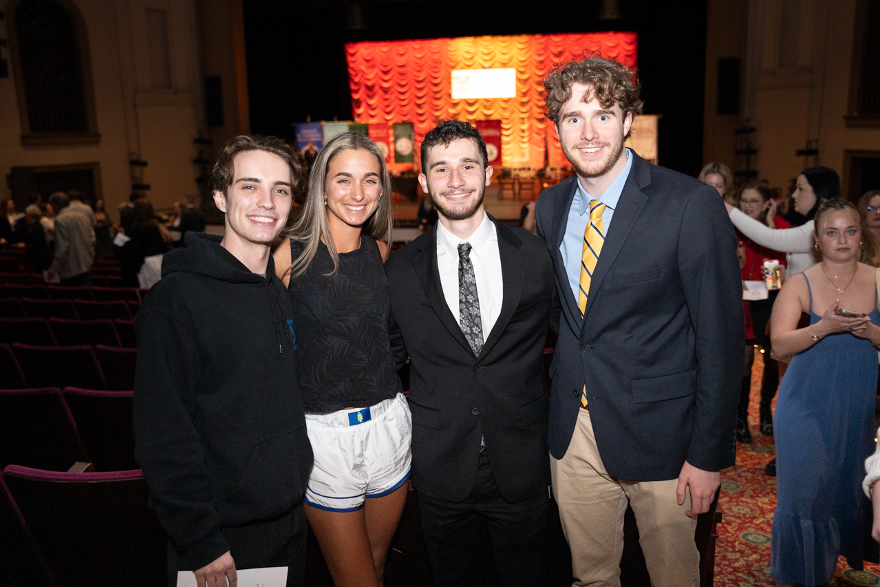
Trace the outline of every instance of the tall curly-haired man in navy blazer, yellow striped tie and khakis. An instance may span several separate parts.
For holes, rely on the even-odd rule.
[[[737,238],[714,189],[624,148],[633,71],[584,57],[545,86],[576,171],[536,213],[561,298],[548,442],[575,584],[620,585],[628,501],[651,582],[697,587],[695,518],[735,460]]]

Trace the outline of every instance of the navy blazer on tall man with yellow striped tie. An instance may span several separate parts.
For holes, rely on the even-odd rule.
[[[685,460],[720,471],[735,462],[743,374],[737,238],[715,189],[633,155],[584,319],[559,250],[576,177],[538,200],[561,298],[548,444],[556,459],[568,450],[586,385],[614,477],[675,479]]]

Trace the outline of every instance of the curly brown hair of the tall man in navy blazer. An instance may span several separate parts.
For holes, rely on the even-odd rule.
[[[583,97],[584,102],[595,98],[603,108],[617,104],[625,117],[629,113],[635,115],[644,105],[639,98],[642,84],[639,83],[635,70],[595,53],[582,55],[580,58],[557,63],[544,78],[547,92],[545,114],[557,125],[562,106],[571,99],[572,84],[590,87]]]

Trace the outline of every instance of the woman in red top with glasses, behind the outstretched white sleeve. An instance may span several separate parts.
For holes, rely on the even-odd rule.
[[[746,184],[739,192],[739,209],[755,220],[766,223],[770,228],[789,228],[788,222],[775,216],[776,206],[771,195],[770,188],[763,181]],[[762,269],[766,260],[778,260],[780,266],[785,267],[785,253],[760,246],[740,231],[737,231],[737,238],[739,238],[740,245],[744,247],[744,280],[763,281]],[[756,345],[766,351],[764,353],[764,376],[761,379],[760,430],[761,434],[767,436],[773,434],[773,415],[770,411],[770,404],[776,394],[776,387],[779,386],[779,367],[776,361],[770,358],[770,335],[766,332],[766,326],[770,320],[770,312],[773,310],[778,290],[770,290],[767,293],[769,294],[767,299],[749,302],[754,336],[752,339],[748,339],[745,344],[746,369],[737,412],[737,440],[744,444],[752,442],[752,435],[749,432],[748,407],[749,392],[752,390],[752,363],[754,362]]]

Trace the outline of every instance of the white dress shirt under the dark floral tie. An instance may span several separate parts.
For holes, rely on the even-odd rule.
[[[458,311],[458,245],[471,245],[471,264],[473,276],[477,281],[477,296],[480,297],[480,322],[483,328],[483,342],[486,341],[495,320],[501,313],[504,299],[504,286],[501,273],[501,253],[498,252],[498,233],[495,223],[484,213],[483,222],[466,238],[458,238],[437,222],[437,269],[440,271],[440,284],[443,286],[446,305],[458,326],[461,317]]]

